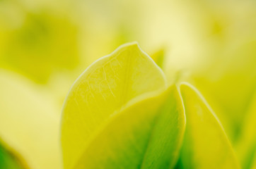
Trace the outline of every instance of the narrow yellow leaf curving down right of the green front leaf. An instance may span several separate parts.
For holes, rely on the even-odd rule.
[[[226,133],[201,94],[187,83],[180,85],[187,126],[182,146],[183,168],[239,168]]]

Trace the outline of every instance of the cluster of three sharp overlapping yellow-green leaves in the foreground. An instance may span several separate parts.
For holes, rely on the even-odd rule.
[[[181,145],[180,168],[240,168],[197,89],[164,79],[137,44],[93,63],[64,104],[64,168],[174,168]]]

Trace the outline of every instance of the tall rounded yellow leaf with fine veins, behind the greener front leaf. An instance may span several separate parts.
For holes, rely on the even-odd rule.
[[[163,72],[138,44],[125,44],[78,77],[62,117],[64,168],[72,168],[93,135],[136,96],[166,87]]]

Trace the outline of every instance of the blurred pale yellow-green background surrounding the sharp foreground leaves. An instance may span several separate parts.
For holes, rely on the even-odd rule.
[[[163,56],[169,83],[187,81],[202,92],[241,165],[251,168],[254,0],[0,0],[0,168],[13,159],[61,168],[59,122],[71,84],[93,61],[134,41]]]

